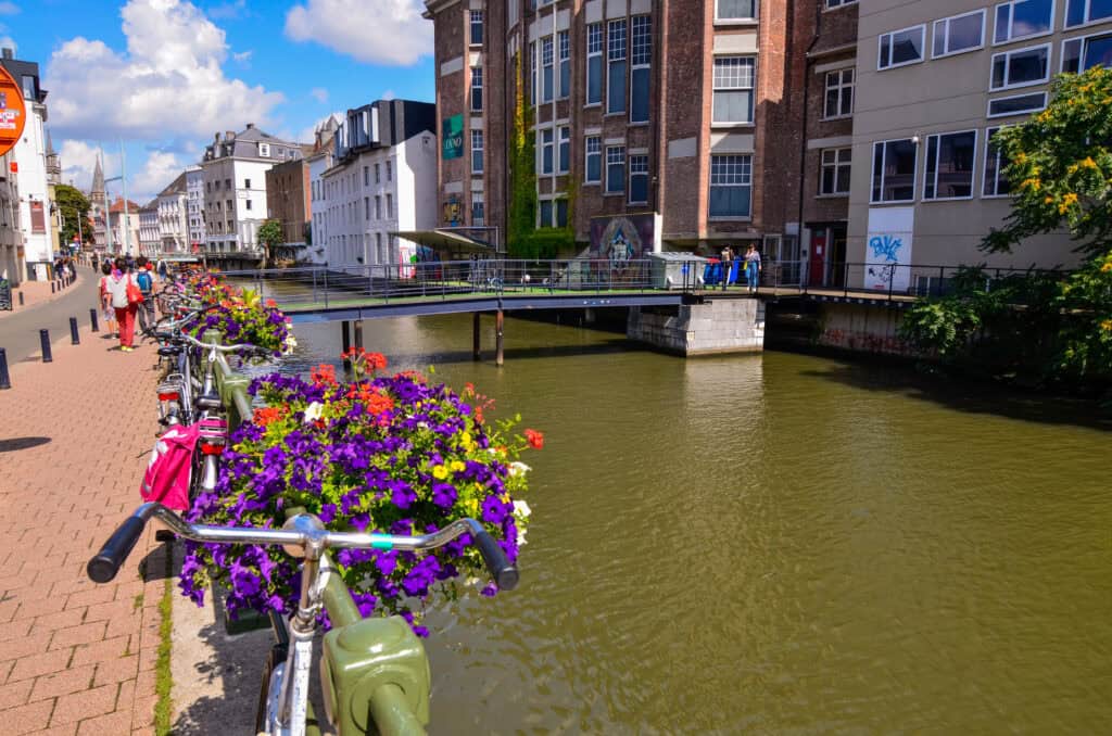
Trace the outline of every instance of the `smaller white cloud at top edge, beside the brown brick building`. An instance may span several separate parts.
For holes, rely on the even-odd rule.
[[[286,13],[286,36],[367,63],[409,66],[433,53],[420,0],[305,0]]]

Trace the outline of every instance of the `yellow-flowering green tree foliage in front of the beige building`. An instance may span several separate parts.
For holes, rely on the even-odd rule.
[[[1112,71],[1062,74],[1050,106],[994,140],[1011,163],[1012,212],[982,248],[1009,251],[1024,239],[1068,229],[1079,250],[1100,255],[1112,240]]]

